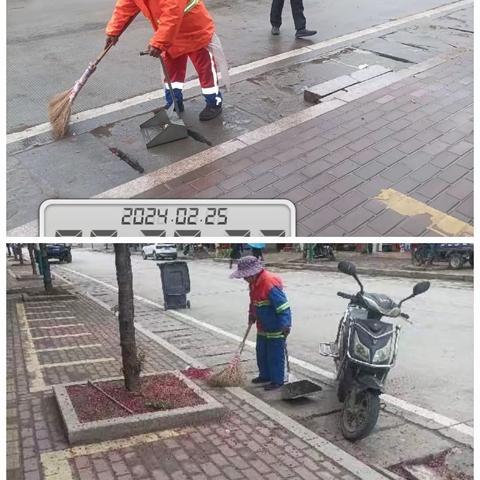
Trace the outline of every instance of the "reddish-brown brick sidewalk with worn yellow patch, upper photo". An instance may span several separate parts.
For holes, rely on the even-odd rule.
[[[393,196],[388,190],[389,199],[377,199],[386,189]],[[296,204],[297,234],[302,236],[470,232],[472,52],[159,185],[145,196],[287,198]],[[453,219],[445,220],[442,213]]]

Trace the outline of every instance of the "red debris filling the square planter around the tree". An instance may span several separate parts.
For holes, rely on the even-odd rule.
[[[95,382],[134,414],[202,405],[205,401],[172,374],[141,378],[140,390],[129,392],[123,380]],[[81,423],[131,415],[102,392],[88,384],[71,385],[67,392]]]

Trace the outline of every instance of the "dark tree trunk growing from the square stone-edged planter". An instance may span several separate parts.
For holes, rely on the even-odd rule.
[[[115,266],[118,283],[118,328],[122,348],[125,388],[131,392],[140,386],[140,362],[135,342],[133,282],[130,250],[124,243],[115,243]]]

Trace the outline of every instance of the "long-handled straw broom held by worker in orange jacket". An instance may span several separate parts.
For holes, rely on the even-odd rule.
[[[121,33],[133,22],[137,15],[134,15],[130,20],[125,24]],[[119,36],[121,35],[119,34]],[[72,115],[72,104],[80,93],[80,90],[87,83],[87,80],[90,78],[92,73],[96,70],[97,65],[103,59],[103,57],[109,52],[113,47],[113,44],[110,44],[108,47],[103,49],[103,52],[97,57],[97,59],[90,63],[87,69],[83,72],[82,76],[74,83],[73,87],[69,90],[65,90],[62,93],[55,95],[48,104],[48,119],[52,125],[53,136],[56,139],[63,138],[68,131],[68,124],[70,123],[70,117]]]

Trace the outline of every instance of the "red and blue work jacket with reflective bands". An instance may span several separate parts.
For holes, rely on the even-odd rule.
[[[292,314],[279,277],[263,270],[250,285],[250,316],[257,323],[259,335],[280,338],[292,325]],[[283,335],[282,335],[283,337]]]

